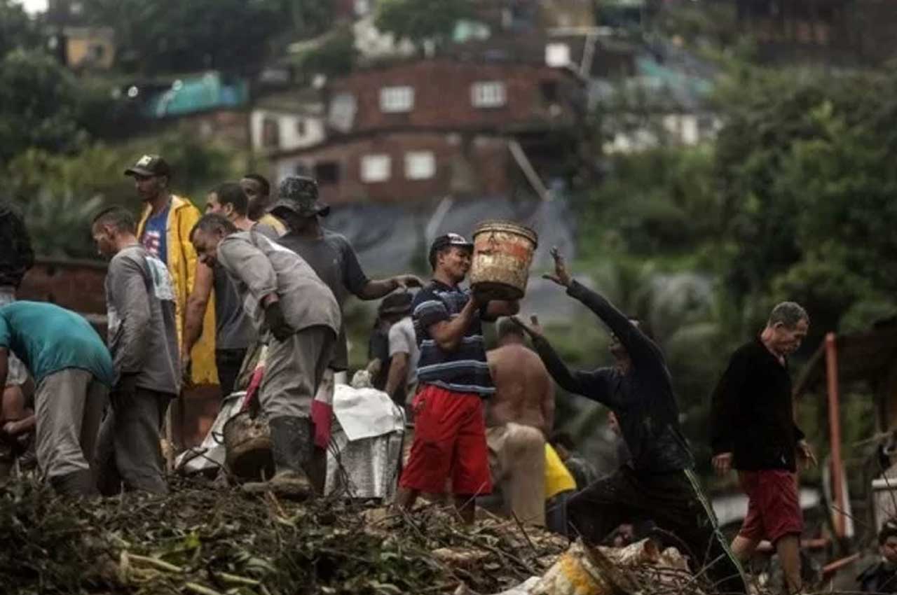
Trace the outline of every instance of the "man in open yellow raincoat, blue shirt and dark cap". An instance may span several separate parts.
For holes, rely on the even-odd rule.
[[[171,194],[171,168],[159,155],[144,155],[125,170],[134,178],[137,195],[144,210],[137,224],[137,238],[146,250],[168,266],[175,292],[178,344],[184,345],[184,327],[188,316],[202,317],[203,333],[190,353],[181,353],[181,366],[189,370],[187,378],[193,384],[218,384],[215,371],[214,298],[210,298],[205,312],[191,314],[187,299],[191,293],[213,281],[212,270],[199,263],[196,250],[190,243],[190,229],[201,213],[187,198]]]

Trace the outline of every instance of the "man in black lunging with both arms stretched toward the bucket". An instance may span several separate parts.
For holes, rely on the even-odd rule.
[[[544,339],[535,316],[532,325],[518,323],[529,332],[555,382],[614,411],[631,452],[631,460],[614,474],[570,498],[570,534],[597,544],[623,522],[649,518],[678,538],[675,545],[686,546],[696,569],[706,567],[718,591],[746,593],[741,566],[729,552],[692,471],[694,459],[679,428],[679,407],[663,354],[636,321],[571,280],[557,249],[552,255],[555,272],[546,277],[567,288],[570,297],[610,328],[616,363],[571,372]]]

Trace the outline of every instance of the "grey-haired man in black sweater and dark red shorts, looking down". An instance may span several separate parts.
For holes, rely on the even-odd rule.
[[[800,457],[815,463],[804,433],[794,422],[788,356],[806,337],[810,319],[794,302],[772,309],[759,337],[737,349],[713,393],[713,466],[730,468],[748,496],[745,522],[732,542],[742,561],[761,539],[776,548],[789,593],[801,590],[800,532],[804,528],[797,495]]]

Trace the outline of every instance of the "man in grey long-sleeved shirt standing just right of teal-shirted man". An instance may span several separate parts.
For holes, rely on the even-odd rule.
[[[141,246],[131,214],[101,211],[91,233],[110,256],[106,275],[109,352],[118,375],[100,427],[100,492],[127,489],[166,494],[160,430],[180,391],[178,330],[168,268]]]

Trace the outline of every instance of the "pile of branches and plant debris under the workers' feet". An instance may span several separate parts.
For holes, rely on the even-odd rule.
[[[64,500],[0,487],[0,577],[30,593],[417,595],[700,592],[675,550],[569,548],[495,518],[467,528],[437,506],[413,515],[179,479],[166,497]],[[584,590],[583,590],[584,589]]]

